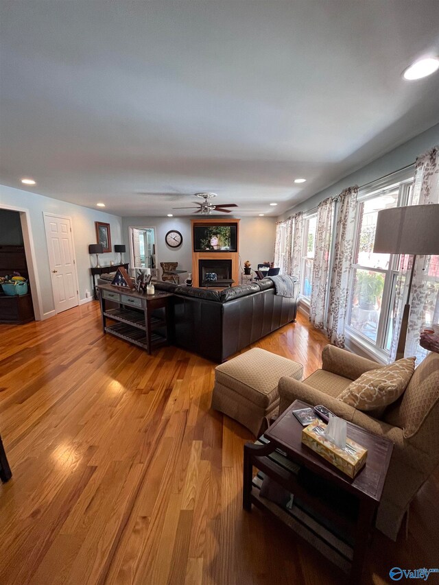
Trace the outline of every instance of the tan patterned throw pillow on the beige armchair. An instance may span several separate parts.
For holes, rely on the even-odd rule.
[[[351,382],[337,398],[363,411],[375,411],[376,416],[403,394],[414,372],[416,357],[404,357],[389,366],[369,370]]]

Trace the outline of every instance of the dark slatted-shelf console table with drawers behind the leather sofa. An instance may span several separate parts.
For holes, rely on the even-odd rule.
[[[153,295],[146,295],[112,285],[98,285],[97,289],[104,333],[110,333],[137,345],[147,350],[149,354],[153,347],[168,344],[171,335],[168,302],[172,294],[156,291]],[[108,309],[107,300],[111,301],[112,305],[118,303],[119,307]],[[156,309],[163,309],[163,315],[155,312]],[[107,319],[116,323],[107,325]]]

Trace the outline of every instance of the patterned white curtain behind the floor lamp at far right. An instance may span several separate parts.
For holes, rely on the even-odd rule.
[[[431,203],[439,203],[439,147],[416,159],[414,187],[409,202],[410,205]],[[419,227],[422,229],[422,226]],[[412,256],[401,256],[400,272],[396,280],[394,329],[389,361],[394,361],[396,357],[403,309],[408,293],[408,275],[411,269]],[[419,345],[420,330],[426,322],[439,322],[439,256],[416,256],[410,293],[405,355],[416,355],[417,363],[420,363],[429,353]]]

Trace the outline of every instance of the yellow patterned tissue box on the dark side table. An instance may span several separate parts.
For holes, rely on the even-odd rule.
[[[349,477],[355,477],[366,463],[368,450],[349,438],[346,438],[348,451],[340,449],[340,447],[324,438],[318,430],[316,431],[316,428],[318,429],[319,427],[320,429],[326,429],[327,425],[324,422],[319,422],[317,425],[315,422],[311,422],[311,425],[305,427],[302,430],[302,443],[309,446],[310,449]]]

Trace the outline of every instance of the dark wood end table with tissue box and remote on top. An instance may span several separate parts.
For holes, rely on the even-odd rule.
[[[375,515],[383,492],[385,476],[388,471],[393,443],[385,438],[374,435],[357,425],[347,423],[347,435],[368,449],[366,465],[354,479],[344,475],[325,459],[314,453],[301,442],[302,425],[293,414],[293,410],[308,407],[306,403],[295,401],[264,433],[268,444],[247,443],[244,446],[244,490],[243,506],[250,511],[252,503],[259,508],[271,510],[264,505],[263,498],[258,497],[252,487],[253,466],[271,477],[280,486],[292,492],[318,514],[337,525],[344,532],[351,534],[354,540],[353,561],[349,582],[357,585],[361,580],[364,558],[368,540],[375,521]],[[276,449],[286,454],[287,459],[295,462],[300,468],[312,472],[342,492],[348,492],[357,501],[356,517],[348,517],[340,511],[333,510],[324,501],[324,495],[307,490],[298,481],[298,475],[289,473],[283,466],[276,465],[268,457]],[[328,485],[329,485],[328,484]],[[352,499],[352,498],[351,498]]]

